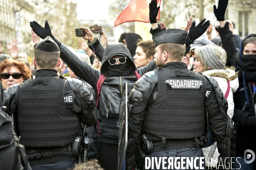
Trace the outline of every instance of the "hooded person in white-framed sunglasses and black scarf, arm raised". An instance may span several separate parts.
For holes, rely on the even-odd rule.
[[[102,116],[102,132],[100,134],[99,161],[105,170],[117,170],[118,162],[118,119],[119,105],[122,89],[128,82],[128,93],[138,80],[136,67],[132,61],[130,51],[123,43],[109,44],[102,57],[102,67],[98,71],[73,54],[64,44],[59,42],[52,34],[47,21],[44,28],[33,21],[30,26],[41,38],[50,36],[58,44],[61,59],[68,67],[87,83],[96,93],[97,82],[103,74],[106,78],[99,94],[98,111]]]

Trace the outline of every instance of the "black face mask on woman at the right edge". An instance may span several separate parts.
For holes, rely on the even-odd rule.
[[[244,71],[256,72],[256,54],[242,54],[241,62]]]

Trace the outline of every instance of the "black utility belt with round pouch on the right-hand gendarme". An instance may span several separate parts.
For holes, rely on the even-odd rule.
[[[151,142],[145,135],[142,135],[139,141],[139,150],[142,157],[146,155],[151,155],[153,152],[179,149],[187,147],[203,147],[205,136],[195,139],[169,139],[166,141],[165,137],[162,137],[161,142]]]

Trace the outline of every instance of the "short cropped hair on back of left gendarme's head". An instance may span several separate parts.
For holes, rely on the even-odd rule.
[[[48,52],[35,49],[36,65],[44,69],[52,69],[58,64],[60,58],[60,51]]]

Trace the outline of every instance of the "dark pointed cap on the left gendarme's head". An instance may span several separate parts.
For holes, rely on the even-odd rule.
[[[47,36],[43,41],[38,42],[35,49],[47,52],[60,51],[60,48],[51,37]]]

